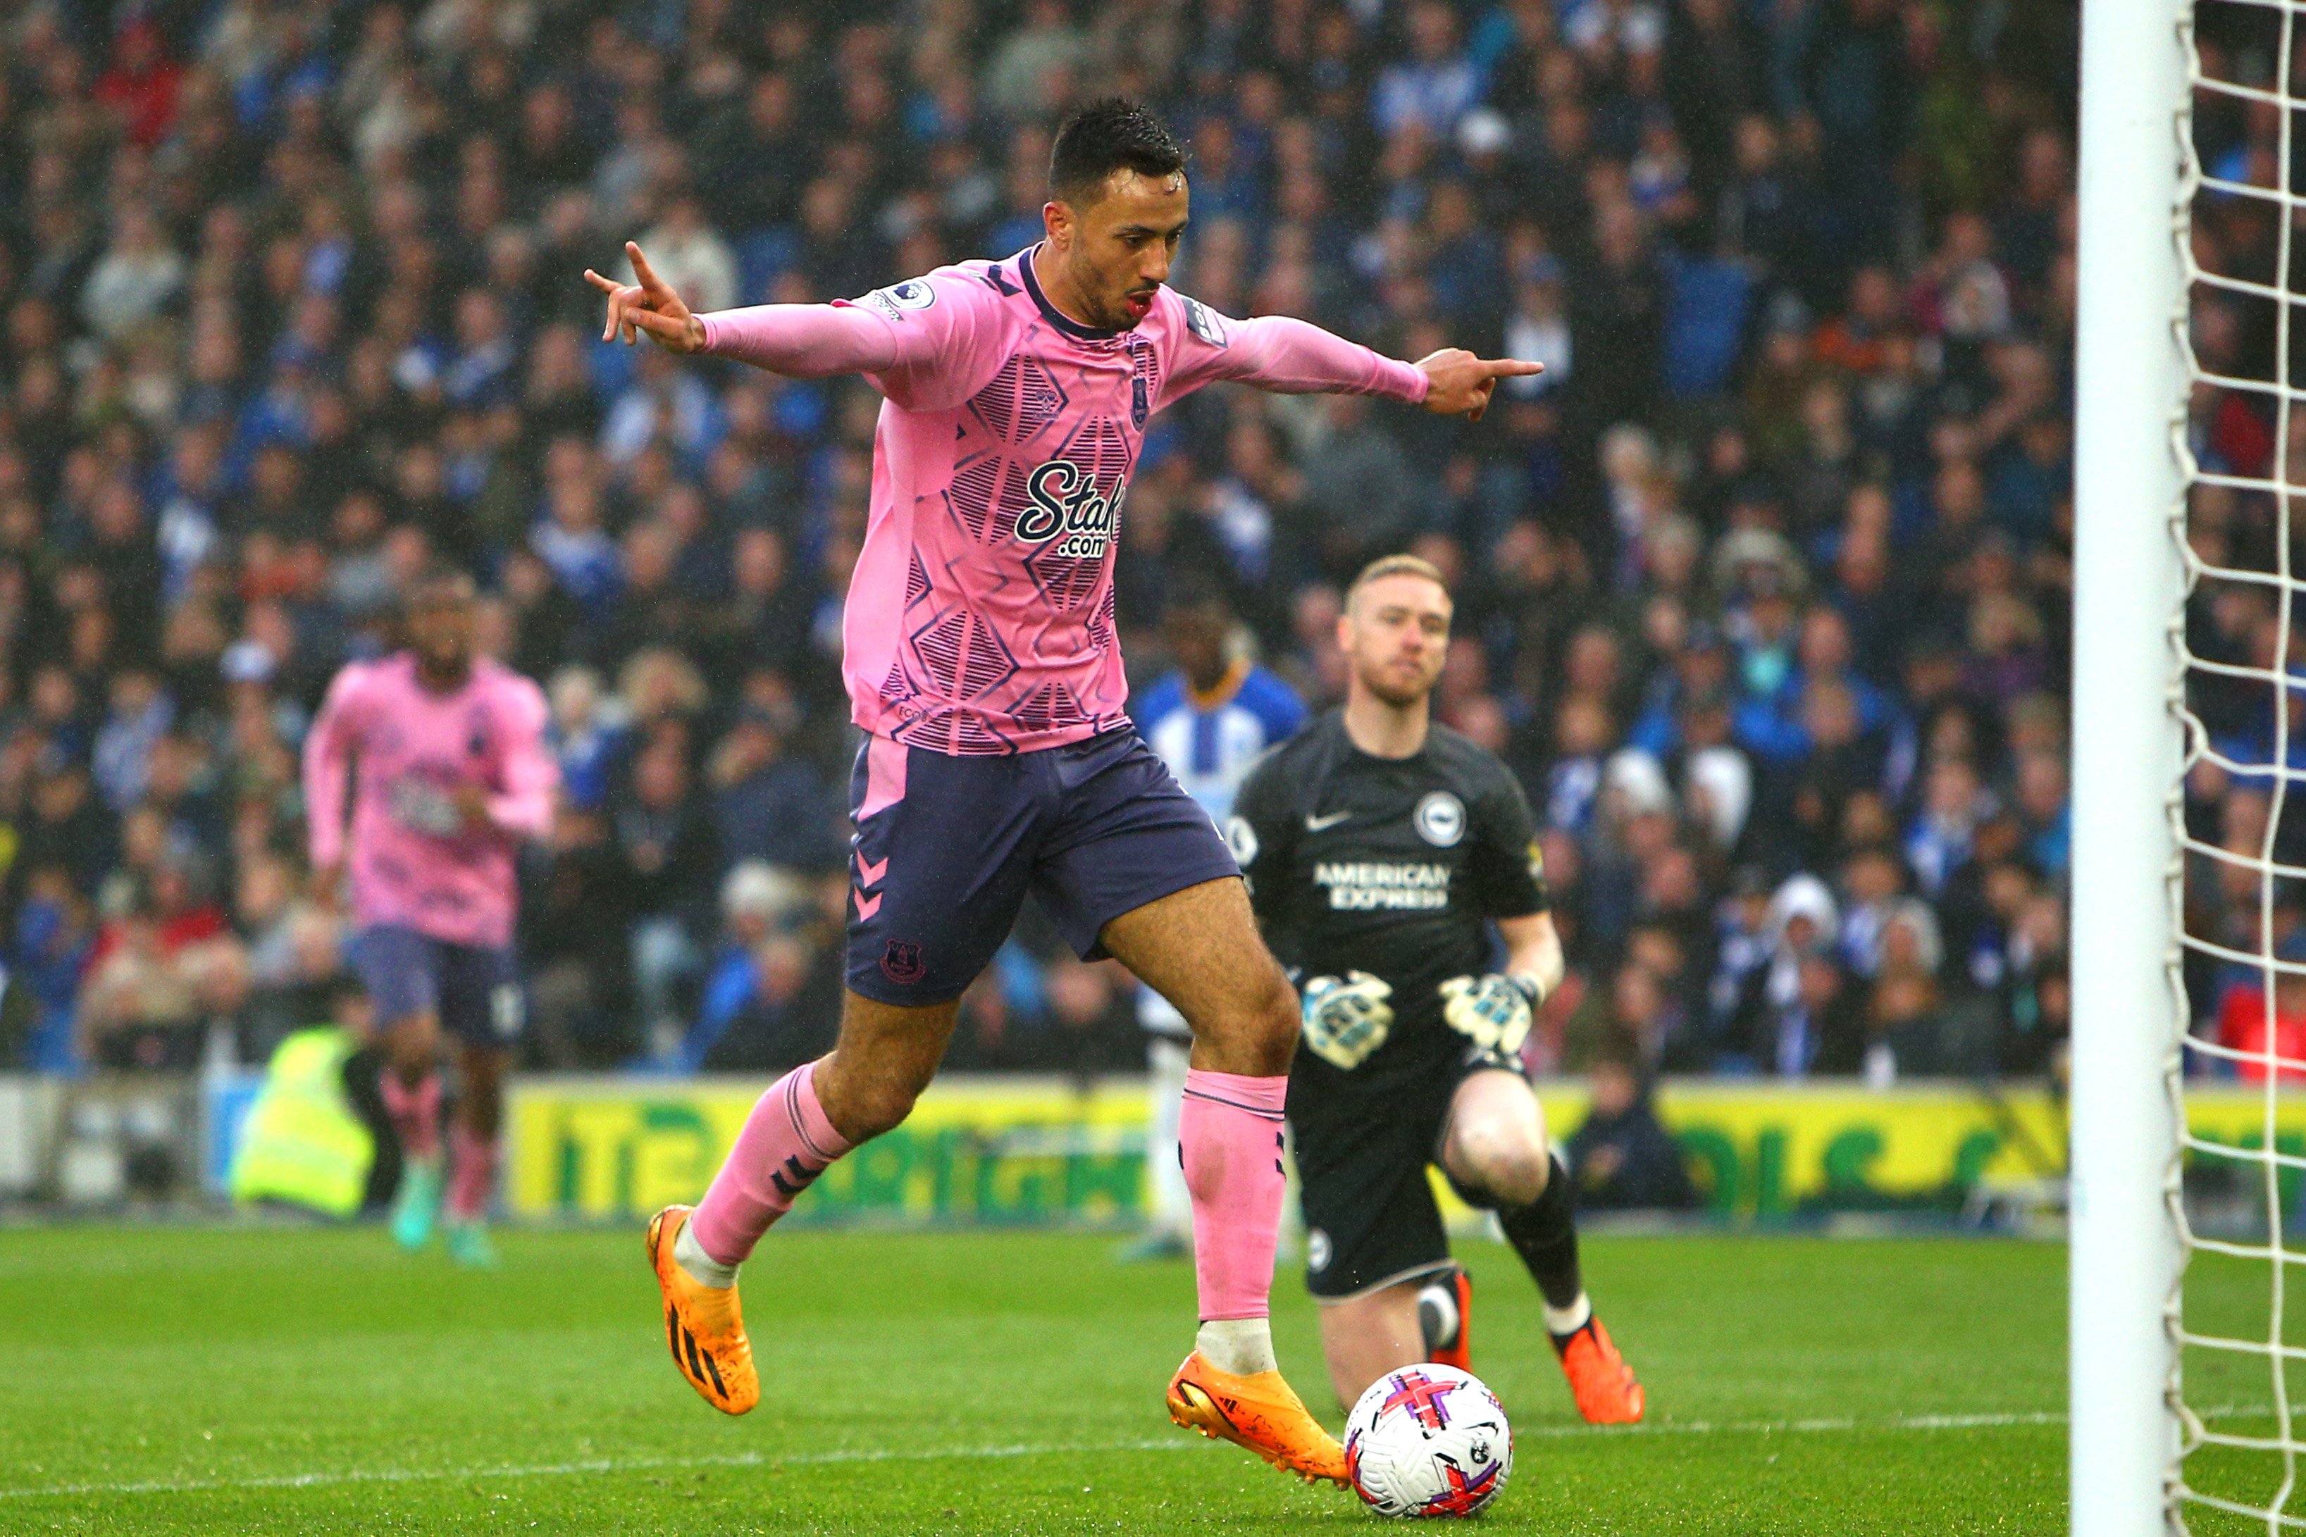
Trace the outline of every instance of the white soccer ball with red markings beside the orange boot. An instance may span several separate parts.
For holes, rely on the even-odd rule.
[[[1513,1475],[1513,1426],[1471,1371],[1402,1366],[1344,1417],[1344,1468],[1379,1516],[1471,1516]]]

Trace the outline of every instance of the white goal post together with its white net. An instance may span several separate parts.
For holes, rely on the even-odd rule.
[[[2306,1530],[2301,21],[2306,0],[2082,9],[2068,1371],[2089,1537]]]

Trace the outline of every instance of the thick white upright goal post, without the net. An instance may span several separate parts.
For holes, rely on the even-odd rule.
[[[2073,1532],[2179,1530],[2172,800],[2186,491],[2179,7],[2085,0],[2075,318]]]

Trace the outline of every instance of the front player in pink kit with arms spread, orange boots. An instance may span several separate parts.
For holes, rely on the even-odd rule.
[[[1220,316],[1165,286],[1185,205],[1185,157],[1160,122],[1100,101],[1056,136],[1047,237],[1005,260],[713,316],[689,313],[639,247],[636,286],[586,272],[609,295],[604,339],[862,373],[886,399],[844,629],[869,735],[851,774],[839,1039],[761,1097],[694,1210],[648,1224],[673,1360],[726,1413],[759,1401],[738,1263],[832,1159],[906,1118],[962,989],[1033,892],[1084,956],[1118,956],[1192,1025],[1178,1143],[1201,1330],[1169,1415],[1344,1482],[1266,1327],[1296,995],[1224,841],[1123,712],[1114,544],[1146,417],[1201,385],[1478,417],[1499,378],[1538,366],[1462,350],[1404,364],[1303,320]]]

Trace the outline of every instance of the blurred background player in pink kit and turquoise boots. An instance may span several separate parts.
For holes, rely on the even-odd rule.
[[[353,790],[346,857],[346,774]],[[491,1260],[503,1076],[521,1032],[512,966],[514,853],[551,830],[560,770],[544,749],[544,694],[473,654],[473,583],[434,576],[408,601],[408,650],[355,661],[304,737],[311,866],[351,871],[353,959],[385,1044],[383,1095],[406,1152],[392,1235],[431,1237],[443,1196],[440,1032],[457,1042],[447,1247]]]

